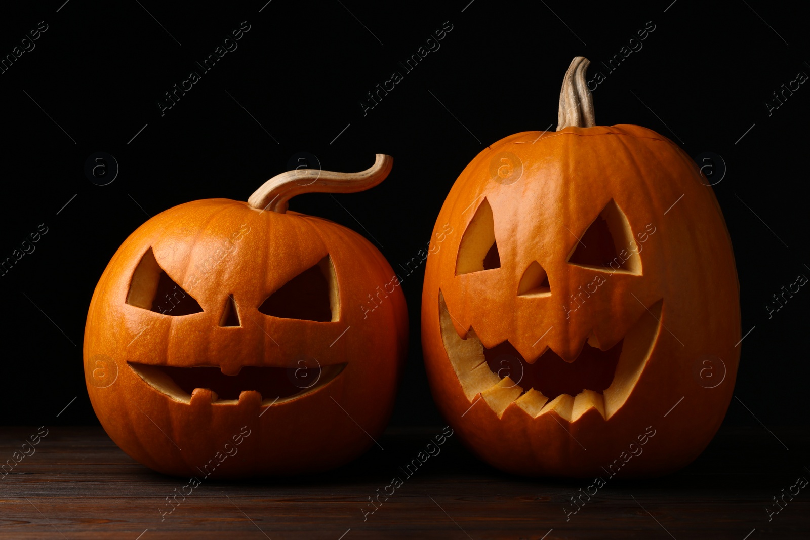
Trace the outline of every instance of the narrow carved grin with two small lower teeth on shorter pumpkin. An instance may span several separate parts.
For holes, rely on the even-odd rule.
[[[244,366],[236,375],[225,375],[215,366],[179,368],[136,362],[127,364],[148,385],[175,401],[188,404],[202,401],[214,405],[249,401],[261,405],[288,402],[328,385],[346,367],[346,363],[317,368]]]

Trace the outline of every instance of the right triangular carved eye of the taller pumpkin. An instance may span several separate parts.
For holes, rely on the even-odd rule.
[[[642,259],[638,256],[630,223],[613,199],[574,244],[568,261],[596,270],[642,274]]]

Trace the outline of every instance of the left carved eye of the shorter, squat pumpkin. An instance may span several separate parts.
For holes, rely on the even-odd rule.
[[[151,248],[143,254],[132,274],[126,303],[172,317],[203,311],[197,300],[174,283],[160,268]]]

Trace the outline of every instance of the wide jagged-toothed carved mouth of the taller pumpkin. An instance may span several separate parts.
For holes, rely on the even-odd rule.
[[[441,290],[438,308],[441,340],[471,403],[480,393],[498,417],[514,402],[532,417],[554,410],[573,422],[590,408],[608,419],[624,405],[658,338],[662,305],[659,300],[647,308],[608,351],[586,342],[569,363],[549,348],[534,364],[527,363],[509,342],[486,349],[473,329],[467,338],[459,336]]]

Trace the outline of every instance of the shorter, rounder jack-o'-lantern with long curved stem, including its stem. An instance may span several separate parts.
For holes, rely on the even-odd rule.
[[[248,202],[181,204],[124,241],[84,335],[87,391],[121,449],[163,473],[224,478],[326,470],[373,444],[405,357],[404,296],[361,317],[394,274],[385,257],[286,210],[297,194],[368,189],[391,164],[285,172]]]

